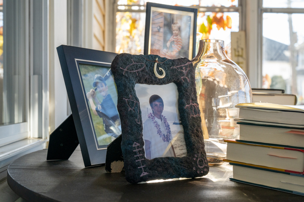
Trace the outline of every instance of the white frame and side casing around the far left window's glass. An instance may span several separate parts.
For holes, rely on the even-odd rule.
[[[12,29],[22,29],[22,33],[10,34],[7,33],[10,30],[4,29],[4,42],[7,37],[17,38],[11,52],[19,56],[23,54],[15,63],[25,68],[25,116],[22,123],[0,126],[0,147],[27,138],[45,140],[49,133],[48,93],[44,93],[48,92],[48,0],[4,0],[3,8],[4,25],[15,22]],[[16,19],[6,17],[10,12],[8,9],[14,10],[11,13]],[[35,21],[37,18],[42,22]],[[7,48],[4,43],[4,66],[7,61],[16,60],[13,54],[7,53]]]

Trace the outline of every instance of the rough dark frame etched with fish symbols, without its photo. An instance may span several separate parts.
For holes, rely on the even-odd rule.
[[[166,72],[156,77],[154,65]],[[122,152],[126,179],[130,183],[155,179],[195,178],[207,175],[201,116],[196,96],[195,69],[187,58],[170,60],[157,55],[119,54],[111,65],[118,91],[118,111],[122,122]],[[158,69],[157,72],[162,74]],[[142,138],[140,102],[135,84],[166,85],[175,83],[178,110],[184,130],[187,155],[146,159]]]

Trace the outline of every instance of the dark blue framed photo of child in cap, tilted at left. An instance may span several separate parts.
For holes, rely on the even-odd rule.
[[[117,90],[110,71],[117,54],[64,45],[57,52],[85,167],[104,164],[107,145],[121,134],[119,116],[118,120],[117,116],[99,110],[117,110]],[[99,92],[100,86],[103,90]],[[91,89],[95,92],[94,100]],[[110,126],[114,129],[110,130]]]

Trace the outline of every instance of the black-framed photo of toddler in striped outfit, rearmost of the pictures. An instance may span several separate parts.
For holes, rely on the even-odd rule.
[[[198,10],[146,4],[144,55],[168,59],[195,57]]]

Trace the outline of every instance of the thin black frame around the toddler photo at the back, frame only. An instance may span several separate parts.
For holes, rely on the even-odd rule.
[[[192,50],[192,58],[193,59],[196,56],[196,34],[197,34],[197,16],[198,16],[198,10],[195,8],[187,8],[187,7],[180,7],[180,6],[170,6],[170,5],[164,5],[164,4],[157,4],[157,3],[150,3],[147,2],[146,4],[146,18],[145,18],[145,31],[144,31],[144,48],[143,48],[143,54],[148,55],[149,53],[149,43],[151,41],[151,35],[150,35],[150,25],[151,25],[151,7],[160,8],[160,9],[167,9],[167,10],[173,10],[173,11],[184,11],[189,13],[194,13],[194,24],[193,24],[193,44],[192,47],[189,47],[189,50],[191,48]]]

